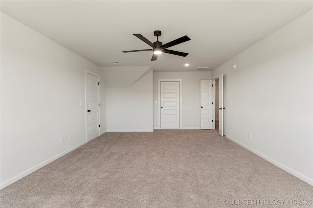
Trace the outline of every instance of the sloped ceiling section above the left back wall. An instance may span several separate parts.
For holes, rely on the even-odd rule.
[[[110,66],[100,67],[107,88],[130,87],[148,71],[151,66]]]

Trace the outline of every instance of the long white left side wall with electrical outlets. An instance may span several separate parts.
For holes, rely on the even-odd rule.
[[[86,142],[85,68],[99,74],[97,65],[1,13],[1,188]]]

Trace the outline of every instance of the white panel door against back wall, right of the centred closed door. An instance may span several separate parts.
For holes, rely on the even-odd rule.
[[[212,129],[212,80],[201,80],[200,85],[200,128]]]

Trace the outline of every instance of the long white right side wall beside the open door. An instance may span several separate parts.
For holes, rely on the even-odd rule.
[[[312,25],[311,10],[212,72],[227,77],[226,137],[311,185]]]

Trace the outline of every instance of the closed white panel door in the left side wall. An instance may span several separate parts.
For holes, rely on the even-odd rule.
[[[87,141],[100,136],[99,77],[86,73],[86,131]]]

